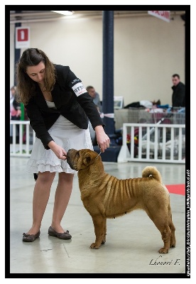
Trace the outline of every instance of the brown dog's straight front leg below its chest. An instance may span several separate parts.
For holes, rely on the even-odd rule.
[[[99,249],[101,244],[105,243],[106,239],[106,219],[101,215],[92,217],[94,224],[94,234],[96,236],[95,242],[91,244],[90,249]]]

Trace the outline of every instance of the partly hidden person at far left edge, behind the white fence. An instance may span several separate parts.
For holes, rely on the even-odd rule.
[[[10,89],[10,119],[21,120],[21,104],[16,101],[16,86]],[[10,137],[10,143],[13,141],[13,136]],[[19,124],[16,125],[16,143],[19,143]]]

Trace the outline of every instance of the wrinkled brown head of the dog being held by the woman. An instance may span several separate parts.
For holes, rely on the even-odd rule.
[[[72,170],[83,170],[89,165],[95,163],[96,160],[102,160],[97,152],[89,149],[75,150],[70,149],[67,151],[67,163]]]

